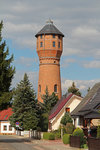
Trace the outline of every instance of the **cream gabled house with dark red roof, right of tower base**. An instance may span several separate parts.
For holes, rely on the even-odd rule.
[[[48,130],[57,130],[59,128],[61,118],[64,116],[65,112],[71,113],[81,102],[81,100],[82,97],[76,96],[72,93],[68,94],[66,98],[63,97],[60,99],[50,112]]]

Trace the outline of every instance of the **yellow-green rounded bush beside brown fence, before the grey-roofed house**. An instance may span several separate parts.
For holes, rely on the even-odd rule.
[[[80,136],[81,145],[86,143],[86,139],[84,138],[84,132],[80,128],[76,128],[73,132],[73,136]]]

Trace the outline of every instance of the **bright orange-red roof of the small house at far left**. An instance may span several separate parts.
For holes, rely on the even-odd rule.
[[[0,111],[0,120],[8,120],[12,114],[13,114],[12,108],[2,110]]]

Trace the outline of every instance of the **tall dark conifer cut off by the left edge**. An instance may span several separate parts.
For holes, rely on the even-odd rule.
[[[11,65],[13,55],[9,56],[6,42],[2,40],[3,22],[0,23],[0,109],[5,109],[10,104],[12,91],[10,89],[15,68]]]

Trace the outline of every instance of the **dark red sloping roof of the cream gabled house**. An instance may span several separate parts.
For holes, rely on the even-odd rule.
[[[49,120],[54,118],[59,112],[60,110],[63,108],[63,106],[69,101],[69,99],[73,96],[73,94],[69,94],[68,97],[61,99],[57,102],[57,104],[54,106],[53,110],[50,115],[49,115]]]

